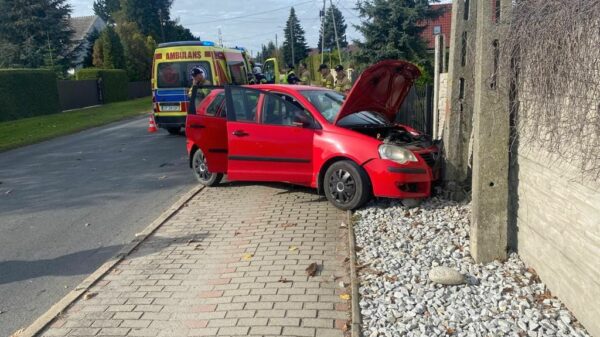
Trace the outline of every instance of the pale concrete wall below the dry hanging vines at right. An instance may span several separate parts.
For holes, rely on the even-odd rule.
[[[600,183],[525,146],[511,170],[519,255],[600,336]]]

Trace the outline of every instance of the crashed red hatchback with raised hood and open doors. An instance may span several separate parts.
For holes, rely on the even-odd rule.
[[[341,209],[372,196],[426,198],[438,178],[439,148],[393,122],[419,75],[408,62],[383,61],[347,97],[298,85],[214,89],[187,117],[190,166],[207,186],[224,174],[287,182],[316,188]]]

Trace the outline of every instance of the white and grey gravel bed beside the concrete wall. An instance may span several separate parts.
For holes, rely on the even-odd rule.
[[[517,254],[477,264],[470,206],[431,199],[407,209],[377,202],[354,215],[363,335],[590,336]],[[446,286],[438,266],[466,276]]]

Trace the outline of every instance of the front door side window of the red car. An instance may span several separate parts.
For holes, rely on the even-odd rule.
[[[312,121],[310,113],[292,97],[280,94],[265,95],[262,107],[263,124],[297,126]]]

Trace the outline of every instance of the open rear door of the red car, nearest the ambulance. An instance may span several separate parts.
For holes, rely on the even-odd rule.
[[[207,97],[198,105],[195,113],[188,114],[186,136],[202,150],[210,172],[227,172],[225,92]]]

